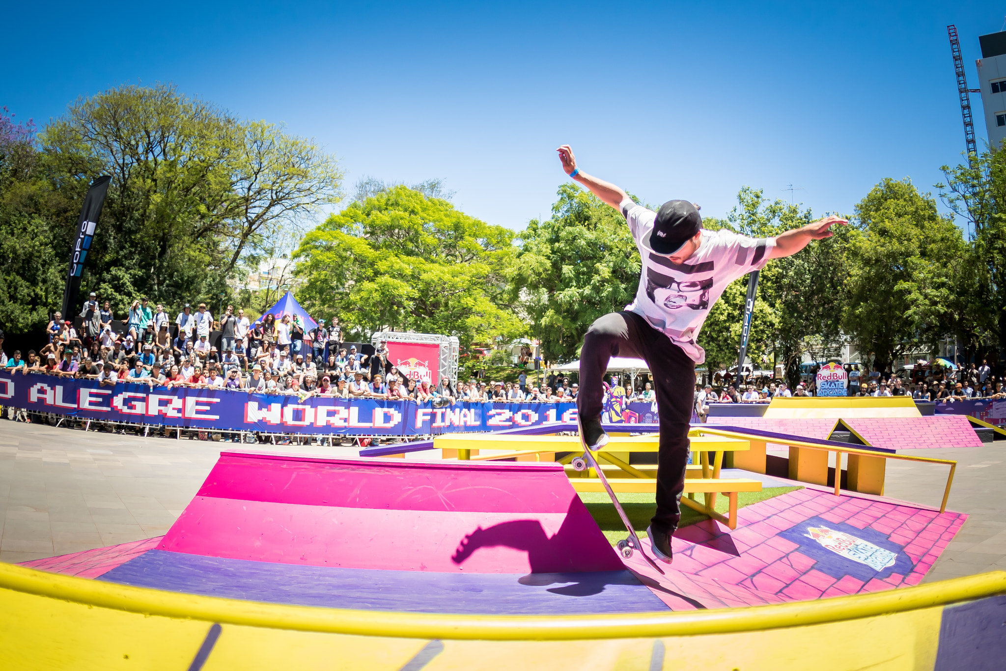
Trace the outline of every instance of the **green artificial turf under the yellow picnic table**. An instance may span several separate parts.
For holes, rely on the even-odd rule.
[[[787,494],[797,489],[803,489],[803,487],[766,487],[761,492],[739,492],[737,494],[737,507],[743,508],[752,503],[765,501],[766,499]],[[641,537],[646,535],[646,527],[650,525],[650,518],[653,517],[653,513],[657,510],[656,495],[623,493],[618,496],[619,502],[622,504],[622,508],[625,509],[626,515],[629,516],[629,521],[632,522],[637,535]],[[699,502],[703,501],[701,494],[696,494],[696,497]],[[604,492],[582,492],[579,498],[586,505],[591,516],[594,517],[594,521],[605,532],[605,537],[608,538],[612,545],[615,545],[626,537],[625,525],[622,524],[619,513],[615,510],[615,505],[608,494]],[[716,497],[715,507],[716,512],[723,515],[727,513],[729,499],[725,494],[720,494]],[[701,522],[706,519],[709,519],[708,515],[695,512],[685,505],[681,506],[681,523],[679,526],[688,526],[689,524]]]

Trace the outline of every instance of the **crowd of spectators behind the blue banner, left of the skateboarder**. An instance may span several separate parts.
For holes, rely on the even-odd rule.
[[[0,333],[0,366],[21,373],[93,379],[109,386],[130,382],[301,398],[561,402],[574,400],[577,392],[576,384],[554,376],[550,385],[528,385],[523,372],[519,382],[442,379],[432,384],[409,379],[388,360],[386,342],[370,355],[355,344],[343,343],[337,318],[329,326],[318,320],[318,326],[310,329],[298,315],[278,320],[267,314],[253,323],[241,309],[235,312],[227,306],[214,318],[200,303],[194,310],[186,305],[172,320],[162,305],[152,308],[143,298],[133,302],[119,327],[110,303],[100,303],[95,293],[79,317],[82,325],[77,332],[72,320],[53,313],[46,327],[48,342],[23,356],[15,351],[7,357]],[[211,343],[214,333],[219,337]]]

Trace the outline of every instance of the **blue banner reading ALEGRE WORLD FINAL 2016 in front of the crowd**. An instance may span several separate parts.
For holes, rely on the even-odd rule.
[[[0,372],[0,405],[71,417],[182,429],[271,434],[422,436],[544,424],[574,431],[574,403],[455,403],[342,399],[227,389],[151,387],[40,373]],[[641,403],[646,408],[650,403]],[[643,409],[642,407],[640,409]],[[654,413],[655,415],[655,413]]]

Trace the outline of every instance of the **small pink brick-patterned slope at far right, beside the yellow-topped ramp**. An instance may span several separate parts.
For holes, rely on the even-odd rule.
[[[842,420],[875,448],[918,450],[924,448],[980,448],[967,415],[934,414],[926,417],[876,417]]]

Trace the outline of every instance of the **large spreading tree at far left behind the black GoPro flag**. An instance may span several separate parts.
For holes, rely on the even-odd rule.
[[[50,265],[45,277],[27,276],[44,285],[30,297],[8,283],[7,312],[36,325],[61,294],[77,213],[99,175],[113,179],[81,289],[120,312],[141,295],[169,309],[215,304],[230,294],[227,281],[243,270],[242,259],[267,247],[278,228],[337,202],[342,177],[314,141],[241,121],[170,85],[76,101],[46,126],[24,163],[0,194],[0,233]],[[0,275],[21,273],[14,256],[0,263]]]

